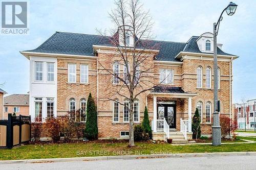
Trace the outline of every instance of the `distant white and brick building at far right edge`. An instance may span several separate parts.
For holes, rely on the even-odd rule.
[[[234,114],[237,115],[239,129],[254,129],[256,121],[254,121],[256,99],[248,100],[246,103],[235,104]]]

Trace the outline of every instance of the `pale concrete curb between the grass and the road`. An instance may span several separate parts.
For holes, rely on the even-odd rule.
[[[117,160],[117,159],[218,157],[218,156],[242,156],[242,155],[243,156],[256,156],[256,152],[220,152],[220,153],[188,153],[188,154],[121,155],[121,156],[98,156],[98,157],[76,157],[76,158],[4,160],[4,161],[0,161],[0,165],[3,165],[3,164],[24,164],[24,163],[78,162],[78,161]]]

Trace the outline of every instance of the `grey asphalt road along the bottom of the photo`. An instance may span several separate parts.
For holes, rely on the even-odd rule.
[[[256,156],[152,158],[131,160],[103,160],[83,162],[5,164],[0,169],[255,169]]]

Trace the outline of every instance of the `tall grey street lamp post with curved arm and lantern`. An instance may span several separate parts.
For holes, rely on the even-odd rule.
[[[229,5],[222,11],[217,23],[214,23],[214,122],[212,124],[212,145],[221,145],[221,126],[220,126],[220,102],[218,102],[218,63],[217,63],[217,35],[219,31],[220,21],[224,11],[227,15],[233,15],[236,12],[237,5],[230,2]]]

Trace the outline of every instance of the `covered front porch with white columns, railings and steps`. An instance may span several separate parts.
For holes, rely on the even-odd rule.
[[[192,138],[192,98],[181,87],[158,87],[150,95],[153,98],[153,140],[173,139],[176,143]]]

